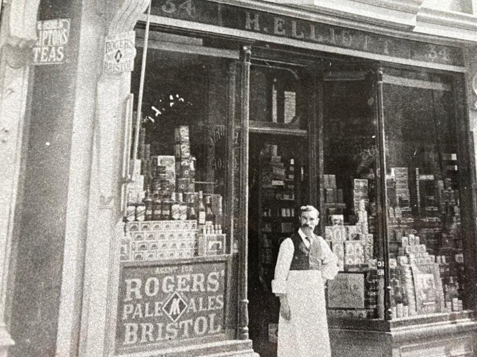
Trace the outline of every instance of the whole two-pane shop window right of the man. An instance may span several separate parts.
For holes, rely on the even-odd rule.
[[[465,265],[473,228],[463,227],[472,213],[463,208],[471,204],[462,196],[470,178],[461,169],[468,158],[456,114],[457,82],[386,69],[381,89],[370,73],[324,77],[321,228],[340,264],[337,278],[328,282],[328,315],[412,321],[462,314],[473,308]]]

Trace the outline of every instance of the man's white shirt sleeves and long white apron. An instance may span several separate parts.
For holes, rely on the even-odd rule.
[[[285,239],[280,246],[272,291],[287,295],[291,319],[280,315],[278,357],[331,356],[323,282],[336,276],[337,258],[323,238],[315,238],[321,246],[321,270],[289,270],[293,242]]]

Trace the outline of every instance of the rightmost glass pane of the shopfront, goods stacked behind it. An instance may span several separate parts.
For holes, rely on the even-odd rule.
[[[387,70],[384,83],[393,318],[462,311],[461,158],[452,81]]]

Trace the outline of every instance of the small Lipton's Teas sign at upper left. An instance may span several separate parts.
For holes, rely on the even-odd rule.
[[[65,63],[70,39],[70,19],[38,21],[36,31],[38,40],[32,49],[32,63],[34,65]]]

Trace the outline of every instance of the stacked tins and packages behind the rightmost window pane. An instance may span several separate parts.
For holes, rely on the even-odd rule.
[[[457,160],[456,154],[442,157]],[[387,178],[390,255],[397,260],[401,286],[405,284],[409,315],[463,309],[464,259],[459,191],[452,179],[455,170],[457,165],[447,165],[440,179],[422,175],[418,168],[414,177],[407,175],[407,168],[393,168]],[[394,184],[400,191],[393,190]],[[402,300],[397,289],[393,286],[395,306]],[[396,317],[405,316],[398,308],[394,312]]]

